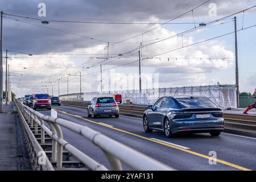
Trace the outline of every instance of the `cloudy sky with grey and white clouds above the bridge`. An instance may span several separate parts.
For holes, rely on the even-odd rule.
[[[57,95],[59,81],[60,94],[67,94],[68,77],[69,93],[78,93],[81,72],[82,92],[97,91],[101,65],[104,90],[126,89],[129,80],[135,80],[138,89],[139,50],[143,88],[154,86],[145,84],[154,77],[160,87],[234,84],[234,15],[221,18],[255,6],[256,1],[209,1],[191,11],[205,1],[1,0],[3,50],[10,51],[12,88],[18,96],[47,88],[52,94],[53,85]],[[45,17],[38,16],[42,2]],[[246,29],[255,25],[255,15],[256,7],[236,14],[237,30],[243,29],[237,32],[241,92],[253,93],[256,88],[256,27]],[[217,19],[221,20],[214,22]],[[199,27],[201,22],[207,26]],[[220,36],[224,34],[228,35]]]

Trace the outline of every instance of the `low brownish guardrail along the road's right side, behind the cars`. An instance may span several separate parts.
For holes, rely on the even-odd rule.
[[[88,101],[61,101],[61,104],[77,106],[86,109]],[[119,113],[131,117],[143,118],[143,113],[147,106],[121,104]],[[246,114],[229,114],[224,111],[225,125],[224,130],[230,133],[256,136],[256,116]]]

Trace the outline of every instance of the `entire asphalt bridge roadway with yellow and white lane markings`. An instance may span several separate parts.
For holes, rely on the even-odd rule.
[[[222,133],[186,134],[166,138],[159,131],[144,133],[142,119],[120,115],[119,118],[88,118],[85,109],[73,106],[53,106],[58,117],[88,126],[110,138],[118,140],[178,170],[256,170],[256,138]],[[50,115],[48,110],[38,110]],[[97,162],[109,167],[99,148],[81,136],[63,129],[64,139]],[[217,164],[209,164],[209,152],[216,151]],[[129,167],[124,166],[124,169]]]

